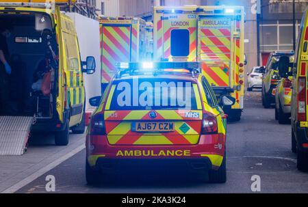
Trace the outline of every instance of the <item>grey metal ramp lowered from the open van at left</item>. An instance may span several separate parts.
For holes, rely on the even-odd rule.
[[[0,155],[25,153],[33,117],[0,116]]]

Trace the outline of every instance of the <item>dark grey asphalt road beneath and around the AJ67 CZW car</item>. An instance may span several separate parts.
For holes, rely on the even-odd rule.
[[[308,193],[308,173],[296,169],[291,126],[274,120],[274,109],[261,106],[259,92],[248,92],[240,122],[227,128],[227,183],[207,184],[190,174],[136,171],[112,176],[90,187],[85,180],[85,150],[75,154],[17,193],[46,193],[47,175],[55,176],[56,193],[253,193],[252,176],[261,178],[261,193]]]

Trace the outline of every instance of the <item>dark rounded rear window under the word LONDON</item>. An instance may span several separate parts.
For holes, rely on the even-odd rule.
[[[190,55],[190,31],[188,29],[171,31],[171,55],[175,57]]]

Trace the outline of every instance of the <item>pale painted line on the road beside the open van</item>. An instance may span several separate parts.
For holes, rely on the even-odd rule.
[[[68,154],[65,154],[64,156],[58,158],[57,160],[53,161],[49,165],[43,167],[42,169],[39,169],[34,174],[31,174],[27,178],[17,182],[12,187],[9,187],[8,189],[5,189],[1,193],[15,193],[16,191],[18,191],[22,187],[25,187],[30,182],[32,182],[32,181],[36,180],[37,178],[39,178],[40,176],[46,174],[47,171],[50,171],[51,169],[57,167],[57,165],[60,165],[61,163],[66,161],[68,158],[74,156],[78,152],[81,152],[81,150],[84,150],[84,148],[86,148],[86,146],[83,143],[81,146],[75,148],[75,150],[72,150],[72,151],[68,152]]]

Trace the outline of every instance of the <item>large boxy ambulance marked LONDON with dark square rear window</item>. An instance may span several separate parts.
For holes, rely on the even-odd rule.
[[[154,60],[200,61],[218,98],[230,95],[229,120],[244,107],[244,8],[183,6],[154,8]]]

